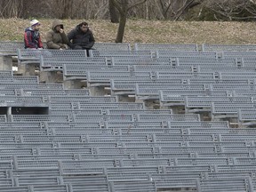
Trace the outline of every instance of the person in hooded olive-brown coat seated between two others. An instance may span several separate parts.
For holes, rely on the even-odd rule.
[[[52,21],[52,30],[47,32],[45,39],[48,49],[68,49],[68,36],[64,32],[60,20]]]

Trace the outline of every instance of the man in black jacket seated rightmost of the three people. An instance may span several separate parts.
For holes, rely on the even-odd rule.
[[[70,46],[74,50],[86,50],[92,49],[95,43],[92,30],[89,29],[87,22],[82,22],[68,33],[68,40],[72,43]]]

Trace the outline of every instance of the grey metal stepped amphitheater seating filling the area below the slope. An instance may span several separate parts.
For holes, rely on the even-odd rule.
[[[255,191],[256,47],[200,47],[0,43],[63,75],[0,71],[0,192]]]

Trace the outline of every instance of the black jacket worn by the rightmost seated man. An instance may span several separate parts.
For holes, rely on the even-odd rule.
[[[85,33],[77,25],[75,29],[68,33],[68,40],[72,42],[71,47],[76,45],[82,46],[84,49],[91,49],[95,43],[92,31],[88,29]]]

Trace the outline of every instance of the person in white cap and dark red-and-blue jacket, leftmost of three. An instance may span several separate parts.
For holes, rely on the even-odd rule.
[[[24,34],[24,44],[25,44],[25,49],[41,49],[44,48],[40,33],[39,33],[39,28],[40,28],[40,23],[38,20],[31,20],[30,21],[30,27],[25,29],[25,34]]]

